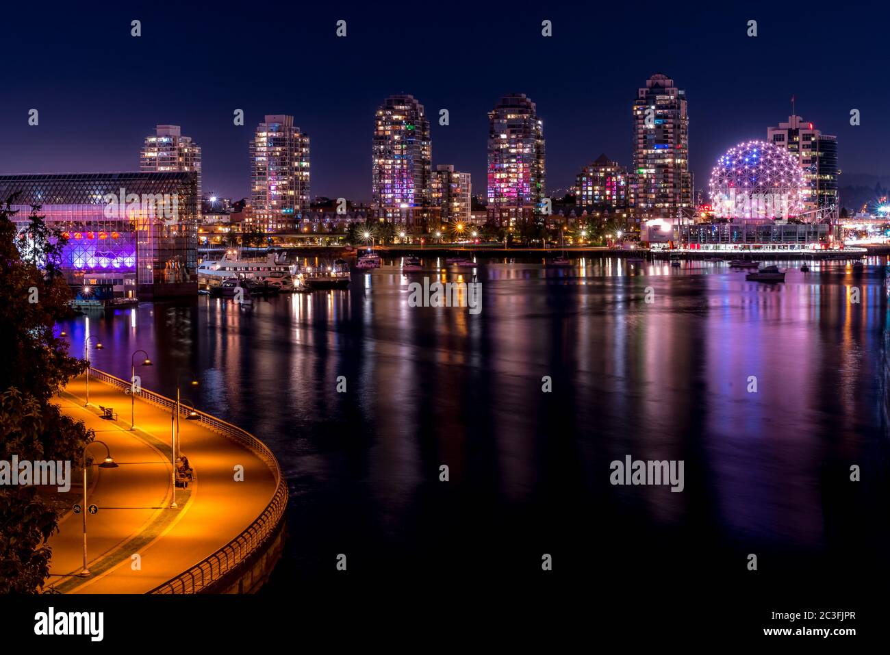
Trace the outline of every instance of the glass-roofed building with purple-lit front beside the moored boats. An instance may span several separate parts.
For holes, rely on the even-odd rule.
[[[151,298],[198,290],[198,174],[0,175],[20,228],[39,205],[68,239],[62,270],[72,286],[113,286]]]

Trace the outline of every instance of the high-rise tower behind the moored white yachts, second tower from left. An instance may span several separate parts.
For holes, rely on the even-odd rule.
[[[248,221],[266,232],[293,231],[309,208],[309,135],[294,117],[269,114],[250,142]]]

